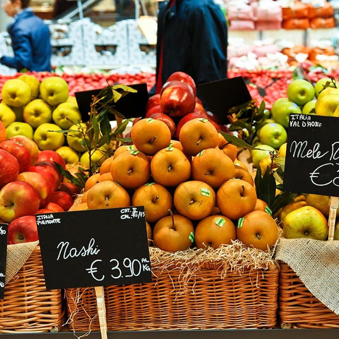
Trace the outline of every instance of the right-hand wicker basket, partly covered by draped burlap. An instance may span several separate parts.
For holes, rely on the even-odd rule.
[[[279,261],[279,316],[282,328],[339,327],[339,316],[320,302],[286,263]]]

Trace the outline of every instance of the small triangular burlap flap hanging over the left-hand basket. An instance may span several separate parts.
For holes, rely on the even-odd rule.
[[[5,284],[18,273],[38,244],[39,241],[32,241],[7,246]]]

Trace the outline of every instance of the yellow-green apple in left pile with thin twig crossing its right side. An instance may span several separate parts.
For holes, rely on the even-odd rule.
[[[42,150],[50,149],[55,151],[65,142],[65,136],[62,129],[55,124],[43,123],[34,132],[33,140]]]

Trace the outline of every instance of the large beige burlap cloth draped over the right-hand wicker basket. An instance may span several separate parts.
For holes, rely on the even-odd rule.
[[[281,238],[275,258],[288,264],[308,290],[339,315],[339,241]]]

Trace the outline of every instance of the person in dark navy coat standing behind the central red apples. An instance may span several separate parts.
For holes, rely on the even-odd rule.
[[[177,71],[196,84],[227,78],[226,57],[226,19],[213,0],[159,2],[156,93]]]

